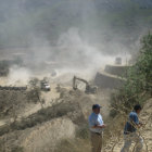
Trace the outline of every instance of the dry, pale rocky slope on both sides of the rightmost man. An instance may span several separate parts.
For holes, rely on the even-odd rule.
[[[140,114],[140,121],[145,123],[145,126],[140,128],[138,132],[141,135],[144,141],[144,149],[143,152],[151,152],[152,151],[152,99],[148,100],[144,104],[144,107],[142,110],[142,113]],[[125,122],[125,121],[124,121]],[[123,130],[123,129],[122,129]],[[123,135],[123,132],[122,132]],[[123,136],[119,137],[112,137],[107,143],[107,145],[104,148],[105,152],[111,152],[113,149],[113,152],[121,151],[123,147]],[[135,144],[132,144],[131,150],[134,149]]]

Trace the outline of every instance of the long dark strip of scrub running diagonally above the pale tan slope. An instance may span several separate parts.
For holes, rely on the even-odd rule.
[[[72,112],[77,111],[78,114],[73,115]],[[78,103],[71,104],[69,102],[61,102],[47,109],[41,109],[37,113],[29,115],[27,118],[16,121],[10,125],[4,125],[0,128],[0,136],[14,130],[24,130],[31,128],[38,124],[51,121],[53,118],[68,116],[75,124],[84,122],[81,109]],[[79,119],[83,119],[81,122]]]

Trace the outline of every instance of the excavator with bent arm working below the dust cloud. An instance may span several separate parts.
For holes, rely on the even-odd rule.
[[[97,92],[97,87],[96,86],[91,86],[91,85],[89,85],[89,83],[87,80],[85,80],[83,78],[78,78],[76,76],[74,76],[74,78],[73,78],[73,89],[74,90],[77,90],[76,80],[79,80],[79,81],[83,81],[83,83],[86,84],[86,90],[85,90],[86,93],[96,93]]]

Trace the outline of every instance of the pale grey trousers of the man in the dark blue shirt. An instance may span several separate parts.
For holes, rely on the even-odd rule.
[[[135,152],[141,152],[143,147],[143,140],[137,132],[130,132],[128,135],[124,135],[124,147],[121,152],[129,152],[129,148],[134,142],[136,142]]]

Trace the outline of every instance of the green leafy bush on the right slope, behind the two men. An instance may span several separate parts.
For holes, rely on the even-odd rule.
[[[144,36],[141,45],[137,62],[128,69],[126,84],[112,97],[111,115],[118,111],[127,113],[137,103],[143,105],[152,96],[152,35]]]

